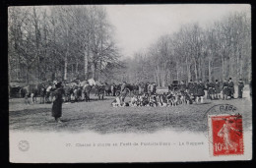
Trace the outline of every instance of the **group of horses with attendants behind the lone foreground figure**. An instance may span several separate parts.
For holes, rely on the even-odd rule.
[[[18,97],[28,99],[28,103],[51,103],[54,98],[55,82],[45,82],[40,84],[28,84],[23,87],[16,87],[15,92],[19,94]],[[90,93],[93,92],[99,100],[104,96],[118,96],[121,93],[121,84],[100,84],[94,79],[86,81],[73,81],[70,83],[63,83],[63,99],[64,102],[78,102],[90,101]],[[134,88],[131,84],[127,84],[125,88],[129,94]]]

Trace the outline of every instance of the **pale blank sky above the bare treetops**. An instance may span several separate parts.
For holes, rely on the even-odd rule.
[[[243,4],[106,5],[115,40],[123,58],[146,50],[160,35],[173,33],[182,25],[198,23],[211,27],[215,21],[234,11],[247,11]]]

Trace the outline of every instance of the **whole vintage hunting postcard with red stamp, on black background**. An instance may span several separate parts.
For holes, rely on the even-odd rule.
[[[8,8],[10,162],[252,159],[251,6]]]

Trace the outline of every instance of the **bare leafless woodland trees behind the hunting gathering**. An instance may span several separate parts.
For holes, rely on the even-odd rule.
[[[183,25],[123,58],[102,6],[10,7],[9,82],[94,78],[106,83],[251,79],[251,17]]]

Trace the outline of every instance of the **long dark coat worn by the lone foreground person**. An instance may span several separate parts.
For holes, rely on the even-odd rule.
[[[51,114],[52,117],[59,118],[62,116],[62,94],[63,94],[62,88],[57,88],[54,90],[53,94],[55,96],[55,100],[53,101]]]

